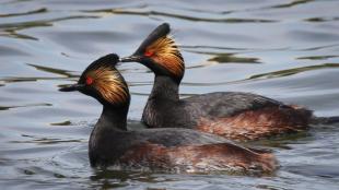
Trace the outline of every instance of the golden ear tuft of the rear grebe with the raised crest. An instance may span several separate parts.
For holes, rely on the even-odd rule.
[[[184,75],[184,59],[172,37],[164,36],[152,43],[145,48],[144,56],[151,58],[174,75]]]

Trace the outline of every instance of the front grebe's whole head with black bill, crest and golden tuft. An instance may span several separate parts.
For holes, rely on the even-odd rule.
[[[128,106],[128,86],[115,66],[119,57],[115,54],[104,56],[92,62],[81,74],[77,84],[61,87],[61,92],[79,91],[96,98],[104,106]]]

